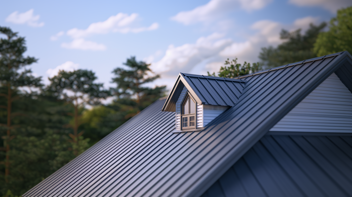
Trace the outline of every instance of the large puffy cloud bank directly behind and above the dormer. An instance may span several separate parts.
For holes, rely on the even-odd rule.
[[[282,28],[289,31],[298,28],[305,30],[311,22],[317,23],[319,21],[318,18],[310,16],[296,19],[291,24],[260,20],[251,25],[251,29],[256,32],[245,37],[246,40],[243,42],[234,42],[231,39],[226,39],[224,34],[213,33],[207,37],[200,37],[195,43],[181,46],[170,45],[159,61],[150,57],[145,60],[151,60],[152,71],[161,75],[161,79],[158,79],[155,84],[167,84],[170,90],[175,82],[175,77],[180,72],[197,75],[207,75],[207,71],[218,72],[220,66],[224,66],[224,61],[227,58],[237,57],[240,64],[243,64],[244,61],[258,62],[258,55],[262,47],[277,46],[283,42],[279,36]]]

